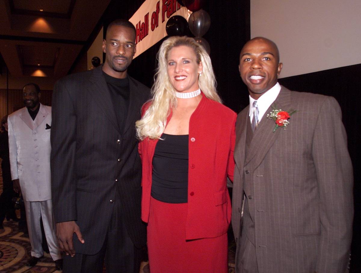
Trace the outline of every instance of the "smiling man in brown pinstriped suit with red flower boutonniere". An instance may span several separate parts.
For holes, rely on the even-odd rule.
[[[236,124],[236,272],[345,272],[353,175],[341,109],[332,97],[280,86],[281,69],[274,42],[244,45],[239,72],[250,104]]]

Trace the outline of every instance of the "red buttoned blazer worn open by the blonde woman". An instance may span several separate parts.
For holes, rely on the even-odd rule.
[[[203,95],[203,93],[202,93]],[[150,102],[144,105],[144,111]],[[170,120],[171,114],[167,122]],[[212,238],[227,232],[231,202],[227,175],[233,180],[236,113],[204,95],[189,123],[187,240]],[[158,140],[139,143],[142,158],[142,220],[148,222],[152,161]]]

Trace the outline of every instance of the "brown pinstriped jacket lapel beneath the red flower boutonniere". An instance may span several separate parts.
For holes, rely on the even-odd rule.
[[[282,86],[276,100],[271,104],[271,106],[273,105],[276,108],[282,109],[284,111],[290,110],[291,91]],[[265,115],[262,117],[260,121],[260,124],[258,124],[257,129],[253,134],[251,147],[249,147],[249,152],[247,153],[245,159],[245,165],[248,164],[248,162],[251,160],[253,160],[255,167],[261,164],[266,153],[269,151],[272,144],[277,139],[278,134],[280,134],[280,132],[283,131],[283,128],[279,127],[273,133],[273,129],[276,124],[273,120],[267,118],[267,114],[272,111],[271,106],[267,109]]]

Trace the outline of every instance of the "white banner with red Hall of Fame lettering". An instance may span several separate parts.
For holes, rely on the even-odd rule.
[[[177,0],[145,0],[129,19],[136,28],[136,53],[134,58],[167,36],[165,26],[174,15],[189,17],[187,8]]]

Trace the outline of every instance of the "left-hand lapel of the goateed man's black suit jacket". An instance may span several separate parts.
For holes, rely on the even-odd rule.
[[[108,85],[105,82],[103,72],[101,70],[102,66],[93,69],[92,76],[90,77],[90,88],[88,91],[91,93],[92,98],[98,104],[98,106],[103,110],[106,118],[113,124],[114,128],[119,132],[119,126],[116,114],[114,112],[113,102],[110,98]]]

